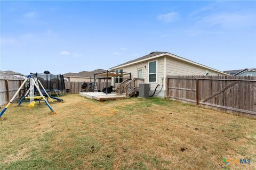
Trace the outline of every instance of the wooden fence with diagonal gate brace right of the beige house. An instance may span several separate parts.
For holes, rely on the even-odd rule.
[[[166,96],[220,111],[256,115],[256,77],[167,76]]]

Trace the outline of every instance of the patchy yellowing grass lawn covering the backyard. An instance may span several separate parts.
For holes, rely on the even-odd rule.
[[[116,101],[79,95],[28,108],[12,104],[1,120],[1,169],[225,169],[250,158],[256,119],[160,98]]]

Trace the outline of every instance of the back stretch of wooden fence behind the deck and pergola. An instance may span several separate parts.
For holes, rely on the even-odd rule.
[[[81,87],[84,82],[75,82],[75,81],[65,81],[65,88],[70,89],[70,94],[79,94],[81,92]],[[90,82],[85,82],[88,84]],[[97,90],[102,91],[103,88],[106,87],[107,82],[95,82],[97,86]],[[93,82],[92,82],[93,84]],[[111,82],[108,82],[108,87],[111,86]]]

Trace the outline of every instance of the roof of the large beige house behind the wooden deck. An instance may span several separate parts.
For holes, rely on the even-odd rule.
[[[200,67],[204,67],[204,68],[209,69],[209,70],[213,70],[213,71],[216,71],[216,72],[219,72],[219,73],[223,73],[222,71],[213,69],[212,67],[209,67],[209,66],[206,66],[206,65],[203,65],[203,64],[199,64],[199,63],[196,63],[196,62],[193,62],[191,60],[188,60],[186,58],[183,58],[183,57],[180,57],[178,55],[175,55],[175,54],[172,54],[172,53],[168,53],[168,52],[152,52],[152,53],[150,53],[148,55],[136,58],[135,60],[132,60],[132,61],[129,61],[129,62],[126,62],[126,63],[123,63],[123,64],[119,64],[117,66],[111,67],[110,70],[114,70],[114,69],[117,69],[118,67],[121,67],[121,66],[132,65],[132,64],[135,64],[135,63],[151,60],[153,58],[158,58],[158,57],[162,57],[162,56],[166,56],[166,55],[170,56],[172,58],[175,58],[177,60],[180,60],[180,61],[184,61],[184,62],[191,63],[191,64],[194,64],[194,65],[197,65],[197,66],[200,66]],[[224,73],[224,74],[226,74],[226,73]]]

